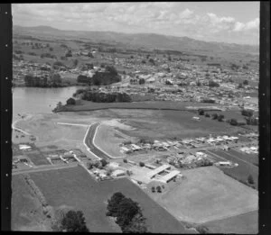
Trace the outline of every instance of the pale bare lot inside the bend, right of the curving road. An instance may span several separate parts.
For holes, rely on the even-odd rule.
[[[123,138],[117,138],[114,128],[107,125],[99,125],[96,132],[94,143],[98,148],[106,151],[112,157],[125,156],[119,150],[119,144],[124,141]]]

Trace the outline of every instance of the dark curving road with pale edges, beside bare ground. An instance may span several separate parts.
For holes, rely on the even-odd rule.
[[[85,144],[88,146],[89,150],[92,153],[94,153],[96,156],[98,156],[98,158],[111,159],[105,152],[101,151],[93,144],[93,140],[94,140],[98,125],[99,125],[99,123],[94,123],[91,126],[89,126],[89,131],[88,131],[87,136],[84,140]]]

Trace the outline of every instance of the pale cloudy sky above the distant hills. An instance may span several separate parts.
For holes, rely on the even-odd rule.
[[[259,2],[13,4],[13,23],[259,44]]]

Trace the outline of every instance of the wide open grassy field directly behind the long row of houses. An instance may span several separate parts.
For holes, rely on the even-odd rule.
[[[132,126],[135,130],[123,131],[138,138],[164,139],[201,137],[221,132],[234,133],[238,127],[229,126],[225,122],[213,122],[202,118],[200,122],[192,120],[193,113],[187,111],[145,111],[114,110],[117,118]],[[226,131],[225,131],[226,130]]]

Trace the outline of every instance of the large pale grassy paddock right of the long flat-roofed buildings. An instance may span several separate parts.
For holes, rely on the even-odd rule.
[[[155,198],[181,221],[202,223],[257,210],[257,191],[219,168],[200,167],[182,175],[186,179],[181,185]]]

